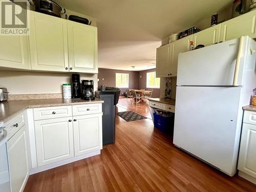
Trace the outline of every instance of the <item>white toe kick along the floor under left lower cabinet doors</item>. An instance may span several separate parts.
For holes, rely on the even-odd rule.
[[[43,172],[44,170],[55,168],[55,167],[65,165],[65,164],[68,164],[68,163],[72,163],[72,162],[75,162],[75,161],[78,161],[78,160],[81,160],[81,159],[92,157],[92,156],[95,156],[95,155],[100,155],[100,150],[97,150],[95,152],[91,152],[91,153],[88,153],[88,154],[84,154],[84,155],[79,155],[77,157],[72,157],[72,158],[69,158],[69,159],[65,159],[65,160],[62,160],[62,161],[58,161],[58,162],[55,162],[55,163],[51,163],[51,164],[48,164],[48,165],[34,167],[34,168],[31,169],[30,175],[33,175],[33,174],[36,174],[36,173],[39,173],[39,172]]]

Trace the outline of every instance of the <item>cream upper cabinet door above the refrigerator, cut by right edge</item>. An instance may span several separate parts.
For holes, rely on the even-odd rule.
[[[256,10],[227,20],[221,24],[221,41],[226,41],[240,36],[256,37],[255,25]]]

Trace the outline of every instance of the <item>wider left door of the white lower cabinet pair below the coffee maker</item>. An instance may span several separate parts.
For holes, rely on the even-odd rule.
[[[74,157],[72,117],[35,121],[38,166]]]

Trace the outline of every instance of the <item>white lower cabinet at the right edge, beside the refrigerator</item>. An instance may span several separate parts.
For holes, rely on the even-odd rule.
[[[245,111],[244,122],[256,116],[256,112]],[[238,169],[239,175],[256,184],[256,122],[243,123]]]

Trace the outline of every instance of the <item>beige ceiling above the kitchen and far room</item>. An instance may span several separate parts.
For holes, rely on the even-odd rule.
[[[99,68],[155,68],[161,39],[231,6],[233,0],[55,0],[61,7],[95,17]],[[133,69],[131,66],[135,66]]]

